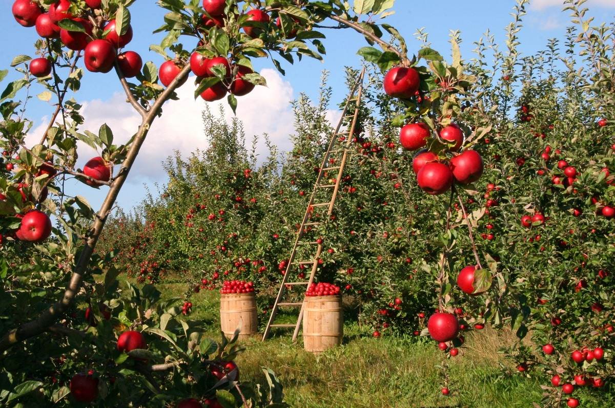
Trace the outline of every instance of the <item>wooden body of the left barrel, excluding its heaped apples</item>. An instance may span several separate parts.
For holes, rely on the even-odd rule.
[[[239,339],[247,339],[258,332],[256,296],[254,293],[220,294],[220,326],[229,339],[240,327]]]

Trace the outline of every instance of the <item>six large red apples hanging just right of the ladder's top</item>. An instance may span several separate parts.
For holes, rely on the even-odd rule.
[[[395,67],[384,77],[384,91],[394,98],[419,98],[421,80],[414,68]],[[423,122],[411,123],[402,127],[400,144],[408,151],[416,151],[427,146],[431,138],[429,127]],[[449,163],[440,160],[432,151],[421,151],[413,159],[413,170],[419,187],[428,194],[437,195],[448,191],[453,182],[470,184],[483,174],[483,159],[478,152],[466,150],[461,153],[464,133],[456,124],[446,125],[438,131],[438,138],[448,145],[448,151],[455,155]]]

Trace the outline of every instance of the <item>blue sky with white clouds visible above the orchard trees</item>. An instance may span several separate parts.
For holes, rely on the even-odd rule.
[[[34,28],[23,28],[18,25],[10,11],[9,1],[4,2],[6,11],[0,14],[2,26],[10,28],[10,39],[5,37],[0,52],[0,68],[8,68],[15,55],[33,55],[34,41],[37,39]],[[414,1],[397,0],[394,9],[396,13],[386,18],[386,22],[399,29],[407,39],[408,49],[418,49],[419,42],[415,40],[414,33],[418,28],[424,28],[429,33],[432,48],[448,55],[450,45],[448,34],[451,29],[461,31],[461,52],[464,58],[472,58],[474,41],[477,41],[487,29],[496,36],[496,41],[504,48],[505,31],[509,24],[515,2],[513,0],[469,0],[461,2],[451,0],[440,1]],[[563,0],[533,0],[528,7],[528,15],[524,18],[523,29],[520,33],[520,50],[525,55],[544,49],[547,39],[552,37],[563,38],[566,25],[568,25],[568,12],[561,12]],[[585,6],[590,8],[589,15],[596,16],[595,23],[611,22],[615,15],[615,0],[589,0]],[[162,22],[164,10],[159,9],[154,1],[137,1],[130,8],[132,25],[135,31],[133,41],[127,49],[135,50],[141,54],[143,60],[152,60],[157,65],[162,58],[153,52],[148,52],[150,44],[158,44],[161,34],[151,34]],[[334,87],[333,101],[337,103],[344,96],[343,66],[360,66],[356,51],[367,45],[365,40],[351,30],[325,30],[327,40],[327,55],[325,62],[304,58],[295,66],[284,65],[286,76],[280,77],[274,73],[272,63],[261,58],[254,61],[255,68],[267,77],[269,89],[260,90],[254,95],[239,99],[238,116],[244,120],[248,139],[253,134],[268,133],[282,148],[287,143],[288,132],[292,131],[292,116],[288,108],[288,101],[293,100],[300,92],[307,93],[313,98],[317,97],[320,82],[320,71],[330,71],[330,85]],[[191,41],[191,40],[189,40]],[[188,47],[189,44],[186,44]],[[9,76],[15,78],[15,76]],[[4,82],[6,83],[8,79]],[[119,204],[130,208],[144,197],[145,184],[153,188],[154,182],[164,182],[164,175],[160,169],[160,161],[169,154],[173,148],[180,149],[188,154],[196,148],[204,148],[202,126],[199,112],[205,106],[203,101],[194,101],[189,89],[189,81],[180,92],[180,101],[169,101],[165,106],[168,115],[174,116],[169,122],[155,124],[151,131],[143,154],[137,162],[137,168],[129,176],[129,182],[119,197]],[[4,85],[2,85],[4,88]],[[42,92],[39,85],[34,85],[34,93]],[[85,73],[82,89],[76,95],[79,102],[85,102],[84,109],[86,125],[90,130],[97,131],[102,122],[108,122],[114,130],[117,139],[127,139],[134,125],[135,117],[121,96],[121,87],[112,74]],[[176,104],[175,107],[172,104]],[[333,106],[331,108],[334,108]],[[34,120],[33,139],[36,131],[44,123],[44,117],[49,116],[52,107],[34,98],[28,104],[28,117]],[[264,113],[267,112],[267,113]],[[227,114],[229,116],[229,114]],[[335,117],[335,112],[331,112]],[[93,152],[83,152],[82,164]],[[97,192],[90,187],[79,183],[68,184],[73,194],[85,195],[93,205],[98,205],[105,193],[105,188]],[[154,188],[155,190],[155,188]]]

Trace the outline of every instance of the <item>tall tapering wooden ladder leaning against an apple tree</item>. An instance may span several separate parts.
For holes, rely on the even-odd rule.
[[[282,278],[282,283],[280,284],[280,290],[277,292],[276,302],[271,309],[271,315],[269,316],[269,321],[267,323],[267,327],[265,328],[265,332],[263,334],[263,340],[267,339],[269,333],[271,332],[271,328],[295,328],[295,332],[293,333],[293,342],[297,339],[297,335],[299,334],[299,330],[301,328],[301,321],[303,320],[303,309],[305,296],[303,297],[303,302],[281,302],[284,298],[284,294],[286,291],[287,285],[304,285],[307,288],[314,281],[314,275],[318,269],[318,261],[320,254],[322,254],[322,242],[318,243],[317,241],[302,241],[303,235],[306,231],[306,227],[308,226],[317,226],[322,224],[322,222],[308,222],[311,218],[311,214],[314,211],[314,208],[318,207],[328,207],[327,217],[330,217],[333,213],[333,207],[335,206],[335,200],[338,196],[339,184],[341,182],[342,175],[344,173],[344,166],[346,165],[346,160],[348,158],[349,148],[352,144],[352,136],[354,135],[355,126],[357,125],[357,118],[359,117],[359,108],[361,103],[361,96],[363,92],[363,77],[365,76],[365,68],[362,69],[359,74],[359,78],[357,82],[352,87],[351,93],[346,100],[346,105],[344,106],[344,110],[342,112],[342,117],[339,119],[338,126],[333,131],[331,135],[331,141],[327,148],[327,152],[325,153],[322,159],[322,165],[320,166],[318,176],[316,178],[316,182],[314,184],[314,190],[312,191],[312,195],[310,197],[308,208],[306,209],[305,214],[303,215],[303,221],[301,221],[301,227],[297,232],[297,236],[295,239],[295,245],[293,245],[293,250],[290,253],[290,257],[288,258],[288,264],[286,265],[286,270],[284,273],[284,277]],[[349,113],[351,109],[354,107],[354,111]],[[352,122],[350,127],[348,127],[343,132],[340,132],[344,121],[352,118]],[[341,147],[337,147],[336,144],[341,136],[344,136],[344,143]],[[331,155],[341,154],[341,160],[339,161],[339,165],[328,167],[329,159],[331,159]],[[335,184],[323,184],[323,176],[328,171],[337,170],[337,177],[335,178]],[[331,191],[331,199],[328,202],[318,202],[315,203],[315,198],[318,192],[323,189]],[[300,246],[311,245],[315,246],[315,254],[312,259],[309,261],[295,261],[295,256],[297,254],[297,249]],[[308,281],[301,282],[288,282],[288,277],[290,277],[290,272],[293,267],[301,267],[301,265],[312,265],[312,270],[309,275]],[[281,307],[301,307],[301,311],[299,312],[299,317],[297,319],[296,324],[273,324],[276,319],[277,312]]]

